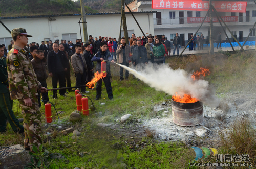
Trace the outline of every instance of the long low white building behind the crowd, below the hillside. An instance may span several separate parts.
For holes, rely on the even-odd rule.
[[[140,26],[146,35],[154,33],[153,13],[134,12],[134,16],[140,23]],[[134,18],[129,12],[126,12],[126,22],[129,35],[135,33],[142,35]],[[83,39],[80,34],[79,21],[81,14],[65,14],[65,15],[40,15],[40,16],[18,16],[18,17],[0,17],[5,26],[12,30],[17,27],[25,28],[29,35],[29,43],[35,41],[41,44],[42,40],[72,40],[75,43],[76,39]],[[121,12],[114,13],[87,13],[87,31],[88,36],[93,37],[116,37],[118,39],[120,32]],[[81,20],[82,21],[82,20]],[[0,25],[0,44],[8,46],[12,40],[11,34]],[[81,31],[83,27],[81,24]],[[122,35],[123,36],[123,31]]]

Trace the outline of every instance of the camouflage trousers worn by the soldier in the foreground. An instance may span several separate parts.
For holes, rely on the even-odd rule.
[[[24,118],[24,146],[26,149],[30,148],[30,150],[32,150],[33,145],[39,147],[42,144],[42,139],[39,134],[41,132],[41,113],[37,96],[35,95],[30,99],[32,101],[31,107],[26,106],[23,99],[19,99],[18,101],[22,108]]]

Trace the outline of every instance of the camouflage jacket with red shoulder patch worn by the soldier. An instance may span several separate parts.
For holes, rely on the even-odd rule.
[[[11,99],[26,99],[38,95],[37,90],[42,86],[37,81],[26,51],[13,45],[6,63]]]

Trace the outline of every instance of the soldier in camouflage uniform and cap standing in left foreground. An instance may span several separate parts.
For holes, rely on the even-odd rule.
[[[46,92],[37,81],[35,71],[28,58],[28,53],[23,49],[28,43],[28,37],[24,28],[12,30],[14,45],[9,51],[6,62],[9,79],[11,99],[17,99],[22,107],[24,118],[24,146],[31,150],[33,144],[39,147],[42,144],[41,136],[41,113],[37,100],[37,90]]]

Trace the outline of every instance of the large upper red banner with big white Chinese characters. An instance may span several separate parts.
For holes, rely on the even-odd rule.
[[[212,5],[218,12],[243,12],[246,11],[246,1],[214,1]],[[152,9],[172,9],[188,11],[208,11],[209,2],[202,0],[152,0]]]

